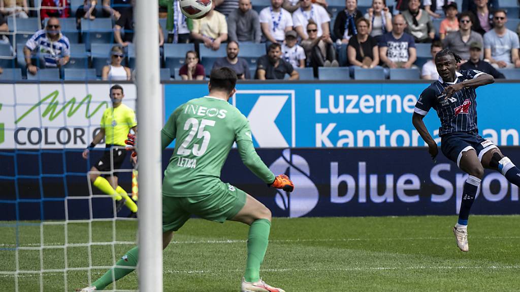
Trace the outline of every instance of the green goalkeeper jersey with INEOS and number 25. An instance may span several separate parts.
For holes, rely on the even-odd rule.
[[[175,150],[164,171],[163,195],[197,196],[218,190],[220,170],[233,142],[242,162],[265,183],[275,176],[256,154],[245,116],[229,102],[205,96],[180,105],[161,131],[162,146]]]

